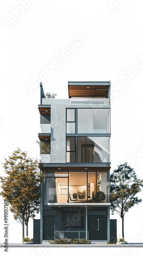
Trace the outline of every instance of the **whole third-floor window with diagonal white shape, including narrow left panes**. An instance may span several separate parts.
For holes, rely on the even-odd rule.
[[[67,137],[66,162],[110,162],[110,137]]]

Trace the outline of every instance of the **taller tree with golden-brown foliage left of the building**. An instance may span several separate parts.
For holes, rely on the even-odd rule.
[[[27,152],[22,152],[19,147],[12,153],[12,156],[4,159],[3,166],[7,176],[0,177],[1,195],[8,201],[14,219],[19,217],[22,219],[22,238],[25,236],[24,223],[28,237],[29,219],[34,218],[40,209],[42,176],[38,162],[37,159],[29,158]]]

